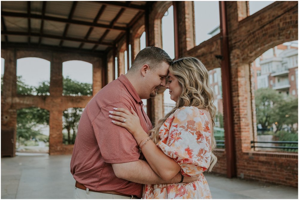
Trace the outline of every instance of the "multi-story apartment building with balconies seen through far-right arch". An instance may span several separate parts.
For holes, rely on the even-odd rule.
[[[258,64],[260,74],[255,70]],[[251,66],[255,90],[269,87],[298,97],[298,47],[278,45],[262,54]]]

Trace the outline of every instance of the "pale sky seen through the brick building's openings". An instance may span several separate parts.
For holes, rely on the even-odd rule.
[[[249,1],[249,12],[253,14],[274,1]],[[219,26],[219,2],[195,1],[196,45],[209,39],[208,33]],[[173,6],[162,18],[163,49],[174,58]],[[141,36],[141,49],[145,48],[145,32]],[[4,59],[1,58],[1,74],[4,71]],[[92,65],[83,61],[68,61],[63,63],[62,74],[83,83],[92,83]],[[17,75],[22,75],[25,83],[38,86],[39,82],[50,80],[50,62],[40,58],[24,58],[17,61]],[[164,92],[164,103],[174,103],[170,100],[168,89]]]

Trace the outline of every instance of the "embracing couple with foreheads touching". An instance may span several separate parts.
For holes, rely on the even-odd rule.
[[[141,99],[169,89],[176,106],[152,127]],[[127,74],[103,87],[81,115],[71,173],[75,199],[211,199],[202,174],[217,158],[213,91],[194,57],[141,50]]]

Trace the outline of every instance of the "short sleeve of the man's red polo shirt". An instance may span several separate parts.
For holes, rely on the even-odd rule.
[[[102,107],[100,113],[92,121],[103,160],[106,163],[138,161],[140,153],[134,137],[127,129],[111,122],[109,111],[114,111],[113,108],[129,110],[129,106],[121,102],[109,104]]]

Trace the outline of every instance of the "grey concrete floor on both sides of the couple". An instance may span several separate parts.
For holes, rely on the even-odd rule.
[[[1,158],[1,199],[73,199],[70,155]],[[34,155],[34,156],[33,156]],[[298,199],[298,188],[205,175],[213,199]]]

